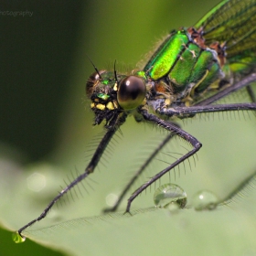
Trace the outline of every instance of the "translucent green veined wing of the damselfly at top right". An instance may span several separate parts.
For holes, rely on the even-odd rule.
[[[203,29],[206,45],[225,42],[228,57],[256,48],[256,1],[224,0],[195,25]]]

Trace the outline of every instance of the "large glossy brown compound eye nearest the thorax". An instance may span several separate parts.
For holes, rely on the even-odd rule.
[[[124,110],[133,110],[142,104],[145,93],[144,80],[135,76],[128,76],[119,84],[117,101]]]

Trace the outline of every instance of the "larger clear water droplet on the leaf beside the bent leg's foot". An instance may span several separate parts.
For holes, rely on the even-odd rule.
[[[157,208],[168,208],[170,204],[184,208],[187,204],[187,194],[176,184],[168,183],[155,190],[154,202]]]

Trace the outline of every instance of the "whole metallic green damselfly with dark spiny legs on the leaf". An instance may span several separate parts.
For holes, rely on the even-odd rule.
[[[130,73],[97,69],[86,84],[86,94],[94,112],[94,125],[104,123],[105,133],[84,172],[63,188],[36,219],[18,229],[22,232],[44,219],[48,211],[83,179],[90,176],[101,160],[113,135],[133,116],[137,123],[153,123],[168,133],[149,155],[144,165],[123,188],[112,208],[116,210],[155,155],[178,136],[191,149],[155,176],[149,178],[128,198],[133,200],[161,176],[195,155],[202,144],[173,120],[193,118],[200,113],[256,111],[251,82],[256,81],[256,0],[224,0],[203,16],[195,26],[172,30],[143,69]],[[250,101],[219,104],[234,91],[246,89]]]

